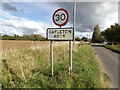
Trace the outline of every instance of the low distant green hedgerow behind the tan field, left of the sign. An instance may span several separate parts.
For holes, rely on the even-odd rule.
[[[45,38],[43,38],[39,34],[30,34],[30,35],[23,35],[19,36],[14,34],[14,36],[9,36],[9,35],[3,35],[2,40],[30,40],[30,41],[44,41]]]

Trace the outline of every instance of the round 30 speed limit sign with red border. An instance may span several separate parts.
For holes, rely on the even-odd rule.
[[[64,26],[68,22],[68,17],[65,9],[58,9],[53,13],[53,22],[58,26]]]

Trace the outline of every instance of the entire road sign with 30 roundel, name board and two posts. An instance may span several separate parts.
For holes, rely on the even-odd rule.
[[[72,40],[74,39],[74,29],[73,28],[61,28],[68,22],[68,12],[65,9],[58,9],[53,13],[53,22],[60,26],[60,28],[48,28],[47,29],[47,39],[50,40],[50,61],[51,70],[53,76],[53,41],[69,41],[69,75],[72,76]]]

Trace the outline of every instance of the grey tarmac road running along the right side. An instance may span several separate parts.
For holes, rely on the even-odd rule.
[[[112,52],[99,45],[92,45],[98,60],[104,68],[104,72],[109,76],[111,88],[118,88],[118,53]]]

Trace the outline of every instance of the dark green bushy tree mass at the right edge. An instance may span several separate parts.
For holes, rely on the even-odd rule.
[[[102,32],[102,35],[107,39],[107,41],[120,44],[120,25],[111,25],[110,28],[107,28]]]

